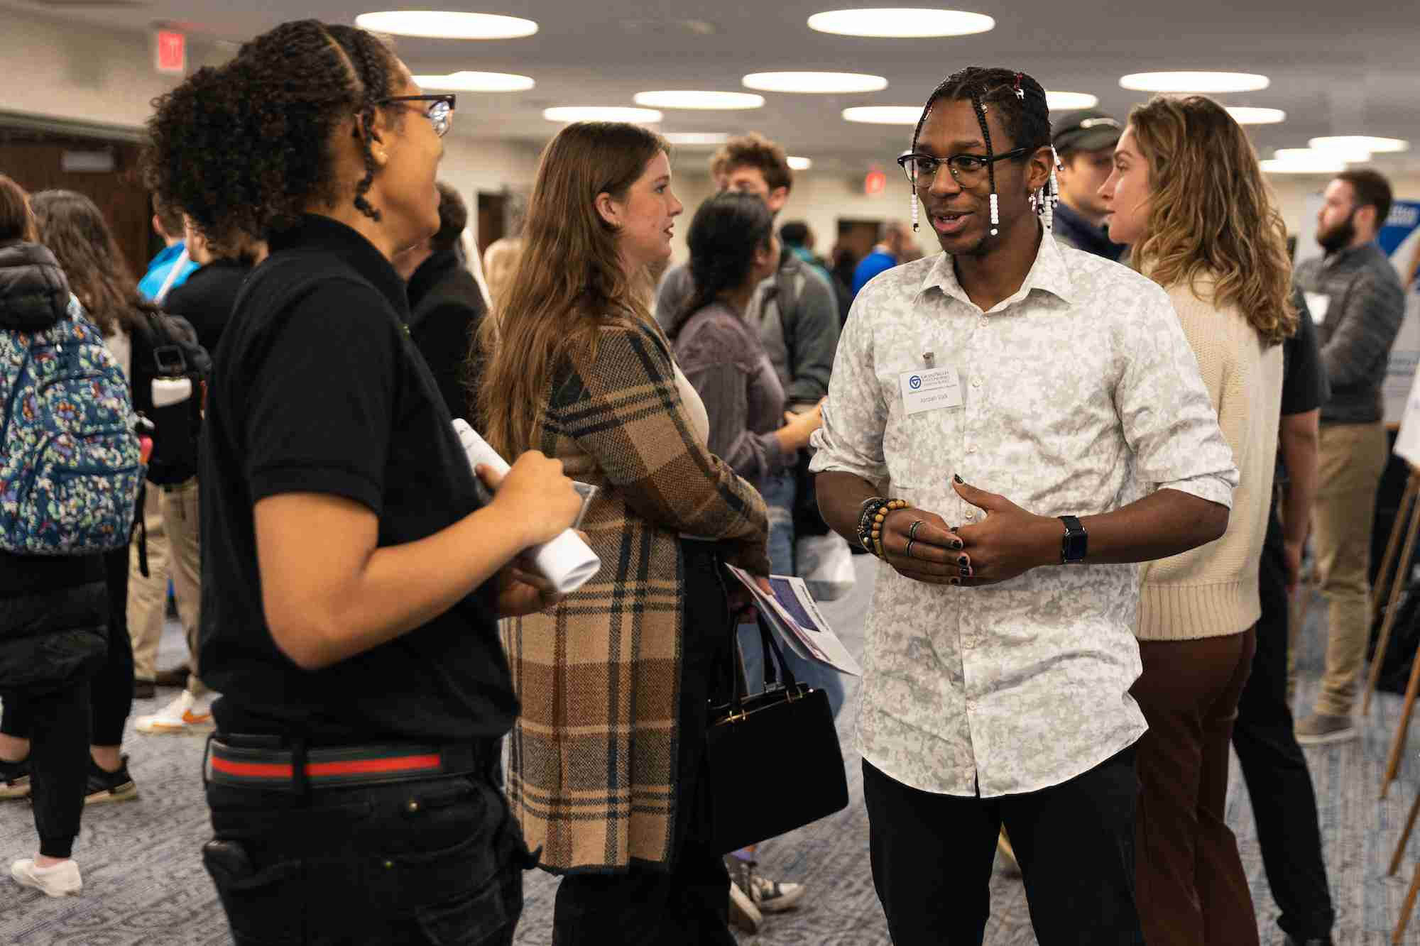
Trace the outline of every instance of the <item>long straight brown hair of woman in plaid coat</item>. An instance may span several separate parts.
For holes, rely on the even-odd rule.
[[[616,230],[595,200],[599,193],[625,199],[646,165],[669,151],[636,125],[578,122],[542,152],[523,256],[471,352],[473,361],[484,359],[483,436],[508,460],[538,445],[551,376],[564,358],[591,358],[604,325],[650,322],[649,283],[622,268]]]

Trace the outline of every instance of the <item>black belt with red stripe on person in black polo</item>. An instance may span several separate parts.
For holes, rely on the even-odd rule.
[[[416,778],[488,773],[497,743],[419,746],[390,743],[339,747],[275,747],[231,744],[241,737],[216,736],[209,743],[207,781],[243,788],[304,791],[381,785]],[[253,740],[257,741],[257,740]]]

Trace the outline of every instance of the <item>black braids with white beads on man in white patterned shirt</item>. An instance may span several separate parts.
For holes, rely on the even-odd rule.
[[[984,68],[968,65],[953,72],[941,81],[927,97],[927,104],[922,109],[922,118],[912,132],[912,151],[917,151],[917,136],[922,135],[923,125],[932,115],[932,108],[937,101],[970,101],[981,125],[981,139],[985,143],[987,158],[995,155],[991,146],[991,126],[987,122],[987,107],[994,107],[1001,115],[1011,141],[1017,148],[1030,149],[1034,153],[1038,148],[1048,148],[1051,141],[1049,107],[1045,101],[1045,89],[1025,72],[1001,68]],[[1037,214],[1042,217],[1047,229],[1054,224],[1055,203],[1059,200],[1059,183],[1055,170],[1059,159],[1051,149],[1051,179],[1031,197]],[[1000,197],[995,190],[995,162],[987,163],[987,180],[991,186],[991,236],[1000,233]],[[917,229],[917,186],[912,187],[912,219],[913,230]]]

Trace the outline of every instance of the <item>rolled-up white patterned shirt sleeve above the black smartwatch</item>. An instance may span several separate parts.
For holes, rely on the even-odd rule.
[[[1143,331],[1116,337],[1123,366],[1115,389],[1140,486],[1233,509],[1238,470],[1179,317],[1163,290],[1142,305]]]

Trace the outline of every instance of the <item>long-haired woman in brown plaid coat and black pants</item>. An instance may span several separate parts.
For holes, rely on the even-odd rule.
[[[523,703],[508,800],[565,875],[557,946],[734,943],[704,733],[733,666],[720,562],[768,574],[768,527],[760,494],[706,449],[704,408],[643,301],[682,210],[663,139],[569,125],[542,155],[483,339],[488,440],[601,487],[582,523],[601,574],[506,632]]]

